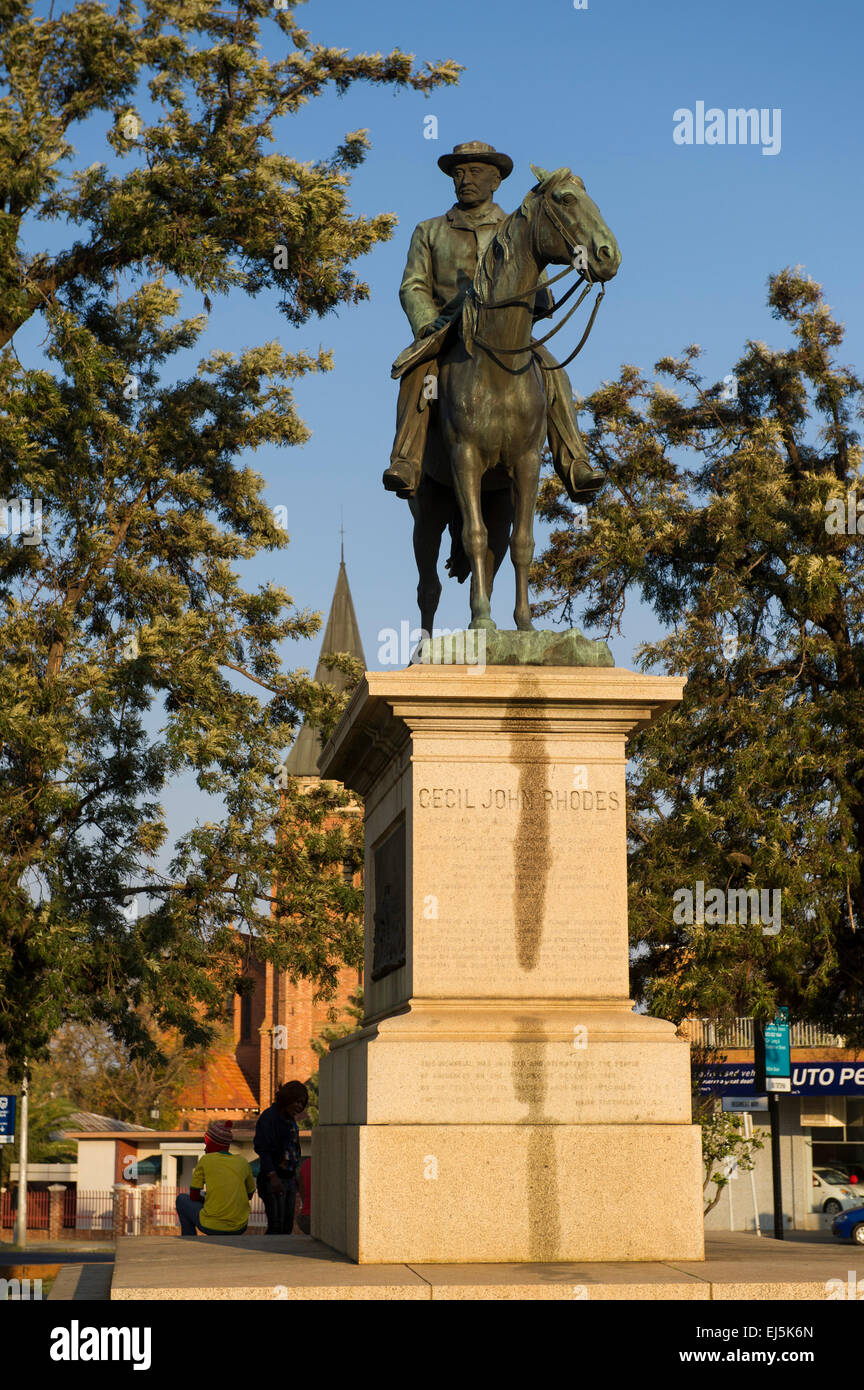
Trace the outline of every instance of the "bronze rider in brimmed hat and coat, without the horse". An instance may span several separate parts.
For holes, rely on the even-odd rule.
[[[438,165],[453,178],[456,204],[414,229],[399,291],[415,342],[438,334],[461,313],[476,265],[507,215],[493,202],[493,193],[510,175],[513,160],[492,145],[468,140],[442,154]],[[535,320],[545,317],[551,303],[551,291],[538,291]],[[533,352],[547,367],[556,367],[546,348],[535,345]],[[419,484],[436,373],[435,359],[419,360],[400,381],[396,439],[383,474],[385,488],[400,498],[411,498]],[[570,381],[561,368],[543,373],[543,378],[547,441],[556,473],[571,500],[588,502],[603,485],[603,474],[588,461]]]

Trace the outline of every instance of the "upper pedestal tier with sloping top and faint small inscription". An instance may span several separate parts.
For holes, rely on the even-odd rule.
[[[686,1125],[689,1047],[629,1001],[413,999],[321,1062],[321,1125]]]

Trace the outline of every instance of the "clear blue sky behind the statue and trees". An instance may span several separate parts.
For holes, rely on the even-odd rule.
[[[331,153],[347,131],[368,129],[371,154],[353,178],[351,204],[364,214],[393,211],[399,227],[357,264],[371,286],[365,304],[294,329],[265,296],[214,300],[197,352],[272,338],[294,350],[332,349],[335,370],[296,388],[311,441],[250,460],[271,503],[288,507],[292,543],[253,562],[246,578],[272,578],[300,606],[326,613],[342,513],[369,667],[381,664],[382,628],[417,621],[410,516],[383,492],[381,473],[396,404],[389,367],[411,336],[397,300],[404,256],[415,222],[453,202],[436,160],[454,143],[482,139],[511,154],[514,172],[497,195],[506,210],[533,182],[529,161],[570,165],[618,239],[621,271],[575,364],[578,393],[615,377],[625,361],[650,373],[660,356],[690,342],[706,349],[711,379],[732,368],[747,338],[785,345],[783,325],[765,307],[765,281],[788,264],[824,284],[847,325],[845,360],[864,366],[860,0],[588,0],[585,10],[572,0],[311,0],[299,18],[321,43],[353,51],[399,46],[418,61],[465,65],[458,88],[429,99],[358,85],[278,126],[285,150],[308,160]],[[281,56],[275,25],[263,42]],[[676,145],[674,111],[697,101],[779,108],[779,153]],[[424,138],[428,115],[438,118],[438,140]],[[99,139],[79,138],[78,146],[79,164],[106,157]],[[186,296],[183,310],[199,313],[197,296]],[[40,325],[31,328],[19,352],[42,336]],[[557,342],[570,350],[579,331],[574,321]],[[513,626],[508,563],[493,613],[499,626]],[[438,621],[461,627],[465,614],[465,587],[446,582]],[[633,648],[654,631],[650,614],[633,606],[625,635],[611,644],[617,664],[631,664]],[[317,641],[293,644],[286,664],[314,667],[317,653]],[[176,827],[200,805],[194,788],[181,788],[172,798]]]

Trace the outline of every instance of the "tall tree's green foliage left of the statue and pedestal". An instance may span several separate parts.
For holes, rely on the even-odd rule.
[[[181,317],[176,285],[204,309],[267,291],[290,325],[363,299],[351,261],[393,225],[349,208],[365,133],[307,164],[274,153],[275,122],[354,82],[428,92],[457,70],[321,47],[294,8],[82,0],[42,19],[0,0],[0,499],[43,512],[40,538],[0,539],[14,1076],[67,1023],[142,1056],[154,1030],[206,1042],[240,933],[321,997],[361,951],[360,895],[339,874],[357,855],[358,828],[335,816],[347,798],[303,796],[279,773],[299,721],[328,733],[344,705],[283,670],[281,645],[319,616],[236,571],[288,542],[238,456],[304,442],[292,382],[331,360],[269,342],[182,375],[174,359],[206,317]],[[106,160],[86,170],[82,122],[89,136],[107,122]],[[63,249],[38,249],[46,221]],[[33,314],[43,359],[21,361],[13,336]],[[219,798],[218,819],[182,835],[163,873],[164,795],[183,771]]]

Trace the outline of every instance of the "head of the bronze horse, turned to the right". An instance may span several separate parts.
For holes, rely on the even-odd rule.
[[[621,264],[618,242],[585,192],[582,179],[568,168],[550,174],[532,164],[531,172],[538,182],[522,203],[522,211],[536,218],[535,245],[543,257],[561,265],[574,260],[576,247],[583,246],[590,278],[611,279]]]

